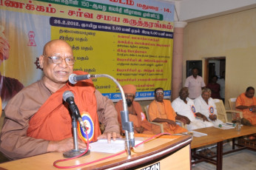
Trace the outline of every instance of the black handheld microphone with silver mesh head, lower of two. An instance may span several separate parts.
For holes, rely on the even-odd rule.
[[[78,110],[78,106],[76,106],[75,104],[73,92],[70,92],[68,90],[64,92],[63,100],[69,104],[71,112],[73,113],[73,115],[75,115],[76,120],[78,120],[78,122],[80,123],[80,126],[82,127],[82,129],[84,129],[84,132],[85,132],[87,129],[84,126],[84,121],[81,118],[80,112]]]

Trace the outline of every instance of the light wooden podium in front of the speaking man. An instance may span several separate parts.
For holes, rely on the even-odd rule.
[[[146,139],[152,137],[152,135],[135,135],[135,139],[136,137]],[[136,147],[135,150],[132,149],[130,158],[127,157],[127,153],[124,153],[98,163],[73,169],[151,169],[151,167],[155,166],[155,170],[187,170],[191,169],[191,141],[192,138],[190,136],[164,135],[149,140],[143,145]],[[58,166],[73,166],[81,163],[89,163],[110,155],[101,152],[90,152],[89,155],[84,157],[58,163]],[[1,163],[0,169],[57,169],[53,166],[53,162],[60,159],[64,159],[62,153],[51,152]]]

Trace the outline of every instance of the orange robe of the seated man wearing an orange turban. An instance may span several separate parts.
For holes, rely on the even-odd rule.
[[[137,115],[129,114],[129,121],[133,122],[134,128],[141,127],[141,126],[144,127],[143,134],[158,134],[161,132],[161,129],[159,126],[149,123],[148,120],[142,120],[142,118],[141,118],[142,109],[141,109],[140,103],[133,101],[132,105],[133,105],[133,107],[135,109],[135,113]],[[121,111],[124,110],[123,101],[118,101],[118,103],[115,104],[115,109],[118,112],[118,122],[121,125]],[[121,128],[121,126],[120,126],[120,128]],[[134,129],[134,133],[136,134],[138,132]]]

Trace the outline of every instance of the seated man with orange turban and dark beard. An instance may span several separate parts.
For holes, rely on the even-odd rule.
[[[143,120],[141,115],[144,114],[140,103],[134,101],[136,87],[132,84],[123,86],[125,98],[127,99],[127,106],[129,112],[129,121],[133,122],[134,132],[143,134],[158,134],[161,132],[159,126],[149,123],[148,120]],[[115,104],[115,109],[118,111],[118,122],[121,125],[121,111],[124,110],[123,101],[118,101]]]

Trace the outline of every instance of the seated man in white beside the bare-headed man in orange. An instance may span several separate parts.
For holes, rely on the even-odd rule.
[[[186,126],[189,131],[213,126],[213,123],[209,122],[205,115],[202,115],[200,112],[196,112],[194,102],[188,98],[189,89],[187,87],[183,87],[180,90],[179,95],[180,96],[178,98],[172,101],[172,107],[177,115],[189,118],[190,122],[188,122]],[[195,117],[202,118],[203,120]]]

